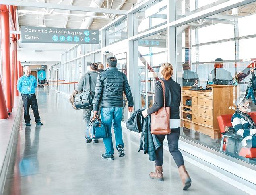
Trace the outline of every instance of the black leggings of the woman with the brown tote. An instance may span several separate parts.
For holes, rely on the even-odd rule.
[[[171,134],[166,135],[168,140],[169,151],[178,167],[184,165],[183,156],[178,150],[178,141],[180,137],[180,127],[171,129]],[[157,135],[157,138],[162,143],[162,146],[156,150],[156,166],[163,165],[163,140],[165,135]]]

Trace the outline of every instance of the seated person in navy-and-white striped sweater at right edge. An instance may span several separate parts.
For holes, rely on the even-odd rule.
[[[243,147],[256,148],[256,124],[247,114],[250,100],[244,98],[237,106],[231,118],[231,123],[237,135],[244,139],[241,141]]]

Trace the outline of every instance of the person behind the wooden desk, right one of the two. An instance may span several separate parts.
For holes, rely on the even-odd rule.
[[[208,84],[214,84],[213,79],[218,80],[232,80],[233,77],[231,73],[223,68],[223,60],[221,58],[215,59],[214,69],[209,73]],[[214,74],[214,70],[216,70]]]

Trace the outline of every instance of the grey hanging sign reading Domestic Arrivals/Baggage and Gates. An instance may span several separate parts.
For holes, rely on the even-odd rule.
[[[21,43],[99,44],[99,31],[21,26]]]

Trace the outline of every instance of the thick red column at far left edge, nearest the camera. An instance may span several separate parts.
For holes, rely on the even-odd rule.
[[[1,48],[4,95],[9,112],[12,112],[12,91],[10,74],[10,27],[9,12],[6,5],[0,5],[1,12]]]

